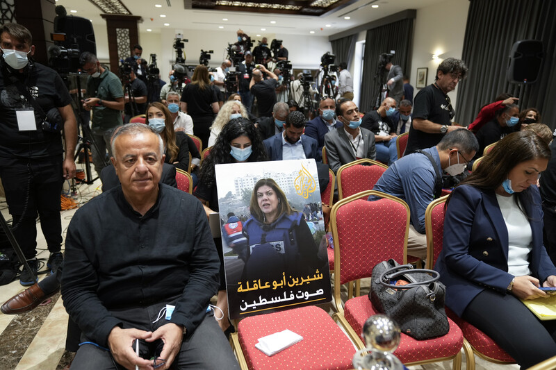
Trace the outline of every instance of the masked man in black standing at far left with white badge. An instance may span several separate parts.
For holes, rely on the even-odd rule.
[[[0,177],[13,234],[36,276],[37,213],[50,251],[47,266],[55,272],[63,262],[60,192],[75,176],[77,124],[62,78],[30,58],[35,46],[28,29],[4,24],[0,47]],[[24,270],[19,283],[36,280]]]

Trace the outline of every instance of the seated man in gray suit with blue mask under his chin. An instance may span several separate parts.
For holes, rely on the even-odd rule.
[[[361,158],[375,160],[375,135],[361,125],[359,109],[348,99],[340,99],[336,105],[336,116],[343,127],[325,135],[328,165],[336,174],[338,168]]]

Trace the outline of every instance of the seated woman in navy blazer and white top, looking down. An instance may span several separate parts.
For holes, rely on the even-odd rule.
[[[556,267],[543,246],[537,188],[549,159],[550,148],[536,134],[521,131],[500,140],[446,201],[443,250],[434,267],[446,285],[446,306],[489,335],[522,369],[556,355],[556,321],[539,321],[520,301],[546,297],[539,287],[556,286]],[[516,218],[523,221],[515,224]],[[509,246],[524,234],[525,242]],[[510,274],[513,265],[529,274]]]

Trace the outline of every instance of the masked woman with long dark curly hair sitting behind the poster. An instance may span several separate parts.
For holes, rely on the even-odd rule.
[[[263,141],[259,132],[249,119],[240,117],[232,119],[220,131],[211,153],[208,154],[199,169],[199,183],[193,195],[203,203],[206,215],[219,211],[218,192],[216,189],[215,165],[240,162],[260,162],[267,160]],[[228,302],[226,297],[226,278],[224,274],[224,256],[222,255],[222,239],[215,239],[216,249],[220,256],[220,287],[216,305],[224,312],[224,319],[219,321],[225,333],[229,333]]]

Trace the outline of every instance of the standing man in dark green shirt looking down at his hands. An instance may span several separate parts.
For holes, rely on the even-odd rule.
[[[89,74],[87,94],[91,97],[83,101],[83,108],[92,110],[91,131],[96,144],[91,147],[92,162],[100,176],[108,164],[106,151],[109,157],[112,156],[112,131],[123,124],[121,111],[124,110],[124,92],[120,78],[102,67],[95,54],[88,51],[81,53],[79,64]]]

